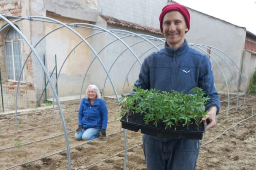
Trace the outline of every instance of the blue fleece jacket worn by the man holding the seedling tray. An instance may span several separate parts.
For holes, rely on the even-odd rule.
[[[194,87],[201,87],[210,101],[208,110],[216,106],[219,113],[220,99],[214,86],[212,65],[209,58],[188,46],[187,40],[176,51],[167,46],[146,57],[142,63],[139,79],[134,83],[142,89],[171,90],[191,93]]]

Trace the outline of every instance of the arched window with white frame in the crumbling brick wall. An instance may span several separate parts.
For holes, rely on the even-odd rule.
[[[5,55],[8,81],[18,81],[23,66],[22,62],[22,38],[21,35],[11,28],[5,38]],[[21,82],[24,75],[21,74]]]

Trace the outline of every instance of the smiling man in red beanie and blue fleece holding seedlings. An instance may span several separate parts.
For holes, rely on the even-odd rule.
[[[190,29],[190,13],[179,4],[167,5],[159,17],[165,48],[146,57],[135,86],[143,89],[171,90],[191,93],[201,87],[210,101],[206,129],[215,126],[220,100],[214,86],[209,58],[190,48],[185,34]],[[143,149],[148,170],[195,170],[199,140],[162,138],[143,135]]]

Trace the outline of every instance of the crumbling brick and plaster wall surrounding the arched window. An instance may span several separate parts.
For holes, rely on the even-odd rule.
[[[25,1],[23,1],[25,2]],[[27,2],[27,1],[26,1]],[[22,2],[21,0],[0,0],[0,13],[12,16],[21,16],[22,13]],[[15,20],[14,18],[8,18],[10,21]],[[23,24],[28,24],[28,22],[17,22],[16,26],[22,31]],[[4,27],[6,22],[0,20],[0,28]],[[10,28],[10,27],[9,27]],[[0,67],[1,67],[1,80],[2,80],[2,91],[5,111],[15,109],[15,99],[17,83],[7,81],[7,69],[5,60],[5,36],[9,28],[6,28],[0,33]],[[24,33],[24,32],[23,32]],[[30,35],[26,35],[29,39]],[[23,63],[25,62],[28,50],[27,44],[23,41]],[[33,83],[33,68],[31,57],[28,59],[26,66],[24,68],[25,83],[19,84],[18,97],[17,97],[17,108],[31,108],[36,106],[36,93]],[[1,96],[0,96],[1,99]],[[0,112],[2,111],[2,103],[0,102]]]

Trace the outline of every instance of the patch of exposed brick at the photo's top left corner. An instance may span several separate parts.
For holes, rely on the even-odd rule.
[[[0,13],[6,15],[21,15],[21,0],[2,0],[0,1]]]

